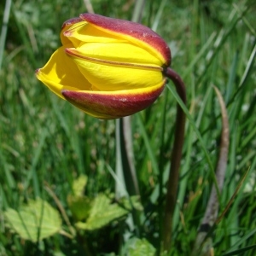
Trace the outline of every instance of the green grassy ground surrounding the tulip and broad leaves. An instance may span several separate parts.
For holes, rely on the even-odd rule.
[[[132,18],[133,2],[91,1],[97,14],[126,20]],[[1,20],[7,13],[4,7],[2,1]],[[211,166],[218,160],[222,126],[212,85],[224,97],[230,123],[230,153],[219,214],[248,171],[235,201],[212,234],[212,247],[216,255],[255,255],[255,11],[253,1],[145,3],[142,23],[153,27],[169,44],[172,68],[186,84],[192,117],[185,131],[170,255],[192,252],[212,188]],[[11,5],[7,38],[0,45],[4,49],[0,60],[0,255],[154,255],[154,248],[160,248],[159,223],[165,203],[159,193],[160,172],[166,183],[176,113],[176,100],[167,87],[152,107],[132,116],[143,210],[101,229],[76,226],[73,231],[77,219],[68,198],[78,177],[87,177],[86,200],[100,195],[112,198],[115,191],[116,124],[91,118],[61,101],[35,78],[34,71],[60,45],[62,22],[84,12],[83,1],[16,0]],[[62,235],[32,242],[14,232],[3,212],[10,208],[20,212],[21,206],[37,198],[57,210]],[[143,239],[148,241],[144,244],[148,254],[136,254],[132,248]],[[137,252],[143,252],[140,250]]]

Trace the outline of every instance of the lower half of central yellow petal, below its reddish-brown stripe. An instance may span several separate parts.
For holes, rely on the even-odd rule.
[[[98,90],[131,90],[151,87],[163,80],[161,67],[104,62],[78,55],[76,49],[66,49],[84,77]]]

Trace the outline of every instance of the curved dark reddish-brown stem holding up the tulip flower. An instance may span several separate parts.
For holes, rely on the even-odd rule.
[[[186,104],[186,89],[183,80],[179,75],[173,71],[170,67],[166,69],[165,73],[168,79],[171,79],[176,87],[177,94]],[[169,178],[167,182],[167,194],[166,194],[166,210],[163,222],[163,249],[169,251],[172,244],[172,218],[174,209],[176,206],[177,198],[177,183],[179,177],[179,166],[182,157],[183,140],[185,130],[185,113],[183,109],[177,104],[176,114],[176,129],[174,137],[174,145],[171,157],[171,167],[169,172]]]

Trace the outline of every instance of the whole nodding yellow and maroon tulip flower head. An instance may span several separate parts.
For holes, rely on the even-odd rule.
[[[83,14],[64,22],[61,43],[36,75],[57,96],[96,118],[137,113],[165,87],[171,51],[146,26]]]

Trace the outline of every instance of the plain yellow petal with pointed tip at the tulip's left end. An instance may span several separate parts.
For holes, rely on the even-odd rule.
[[[79,72],[79,68],[68,57],[63,46],[51,55],[43,68],[37,70],[36,75],[61,98],[64,98],[61,90],[90,90],[91,88],[91,84]]]

